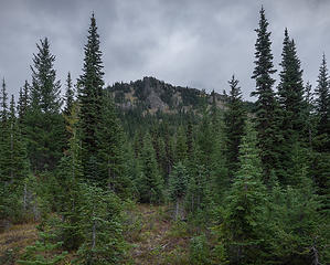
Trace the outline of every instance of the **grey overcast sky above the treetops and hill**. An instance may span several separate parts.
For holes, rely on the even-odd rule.
[[[173,85],[227,89],[235,74],[245,98],[254,89],[254,44],[264,4],[275,67],[284,30],[295,39],[304,80],[316,84],[330,57],[330,0],[0,0],[0,77],[18,94],[31,80],[35,43],[49,38],[57,78],[82,73],[89,17],[100,35],[105,82],[155,76]],[[64,89],[64,88],[62,88]]]

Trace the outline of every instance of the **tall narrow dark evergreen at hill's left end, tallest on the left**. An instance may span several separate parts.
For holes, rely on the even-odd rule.
[[[83,148],[84,176],[93,174],[93,160],[97,152],[96,130],[100,121],[103,63],[99,50],[99,35],[97,33],[94,13],[91,18],[87,44],[85,45],[83,74],[77,82],[79,112],[79,128]],[[91,168],[92,167],[92,168]]]

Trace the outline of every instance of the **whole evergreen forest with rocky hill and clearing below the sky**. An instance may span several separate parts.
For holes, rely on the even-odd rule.
[[[41,40],[17,102],[2,81],[0,263],[329,264],[326,55],[313,88],[286,29],[276,81],[263,8],[255,31],[255,103],[235,75],[105,86],[94,14],[76,82]]]

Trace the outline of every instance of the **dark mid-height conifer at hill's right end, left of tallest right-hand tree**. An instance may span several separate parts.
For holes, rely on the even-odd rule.
[[[230,165],[231,176],[236,171],[238,163],[238,149],[244,135],[246,114],[242,100],[242,92],[238,86],[238,80],[232,76],[228,81],[231,91],[226,100],[227,110],[224,114],[225,132],[227,139],[227,162]]]

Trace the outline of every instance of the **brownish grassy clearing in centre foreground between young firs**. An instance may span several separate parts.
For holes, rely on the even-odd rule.
[[[189,233],[184,222],[173,222],[164,205],[138,204],[127,264],[189,264]]]

